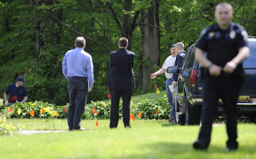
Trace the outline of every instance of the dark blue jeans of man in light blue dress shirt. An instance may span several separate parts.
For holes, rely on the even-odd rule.
[[[69,77],[69,111],[67,123],[69,130],[80,129],[81,117],[87,99],[87,78]]]

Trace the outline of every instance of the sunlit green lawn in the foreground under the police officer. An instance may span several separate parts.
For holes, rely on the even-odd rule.
[[[11,119],[27,130],[67,130],[67,120]],[[256,158],[256,126],[238,124],[239,148],[225,153],[226,127],[213,127],[207,151],[192,147],[199,126],[180,126],[165,120],[135,120],[124,129],[109,129],[109,120],[83,120],[87,131],[0,136],[0,158]]]

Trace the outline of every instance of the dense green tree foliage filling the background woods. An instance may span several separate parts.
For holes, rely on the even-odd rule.
[[[95,84],[89,101],[106,98],[109,53],[118,49],[122,36],[129,39],[128,50],[136,54],[137,88],[133,94],[154,91],[156,82],[164,90],[165,76],[150,80],[148,72],[159,70],[170,55],[171,44],[183,42],[186,50],[203,28],[215,23],[214,10],[219,2],[222,1],[0,1],[0,90],[4,92],[17,76],[24,76],[28,101],[67,103],[67,80],[61,64],[65,53],[74,48],[77,36],[85,37],[85,51],[93,57]],[[241,21],[248,35],[256,36],[256,1],[227,2],[234,9],[233,22]],[[145,48],[150,45],[156,50]]]

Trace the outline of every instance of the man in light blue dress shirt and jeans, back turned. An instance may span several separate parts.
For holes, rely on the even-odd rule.
[[[67,123],[69,130],[85,130],[81,128],[81,117],[85,111],[87,92],[93,87],[93,61],[91,55],[85,52],[85,39],[75,39],[75,49],[66,52],[62,71],[69,80],[69,110]],[[87,90],[89,80],[89,90]]]

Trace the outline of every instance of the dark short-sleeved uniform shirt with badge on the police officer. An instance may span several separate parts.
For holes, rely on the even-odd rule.
[[[221,67],[237,56],[239,48],[248,46],[247,32],[235,23],[231,23],[226,30],[216,23],[204,29],[200,36],[196,47],[207,51],[207,59]],[[242,70],[242,64],[237,68]]]

